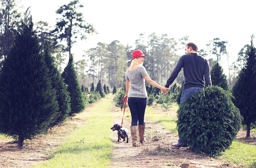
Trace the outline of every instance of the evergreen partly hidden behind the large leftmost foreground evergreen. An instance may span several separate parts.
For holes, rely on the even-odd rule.
[[[49,48],[47,45],[48,44],[45,44],[44,47],[44,59],[46,67],[49,69],[52,87],[56,90],[56,99],[59,105],[59,112],[55,118],[55,122],[53,123],[53,125],[57,125],[63,122],[71,111],[70,96],[67,91],[67,87],[65,86],[64,79],[61,77],[54,63],[53,56],[49,54]]]

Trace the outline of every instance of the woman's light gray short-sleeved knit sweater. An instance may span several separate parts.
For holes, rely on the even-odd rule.
[[[125,79],[130,81],[128,98],[148,98],[145,86],[144,76],[147,76],[147,71],[144,66],[138,66],[133,71],[129,68],[125,72]]]

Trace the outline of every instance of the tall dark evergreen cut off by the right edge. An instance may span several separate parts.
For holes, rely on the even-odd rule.
[[[251,46],[248,47],[248,57],[245,66],[233,87],[234,103],[240,109],[246,125],[246,137],[250,137],[251,124],[256,121],[256,49],[251,37]]]

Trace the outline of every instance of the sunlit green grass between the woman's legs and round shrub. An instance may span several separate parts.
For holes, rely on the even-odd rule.
[[[178,109],[178,106],[173,105],[171,107],[171,112],[176,113],[177,109]],[[145,118],[148,118],[155,122],[159,122],[164,126],[165,129],[168,129],[173,133],[178,133],[177,124],[175,122],[176,119],[171,118],[170,116],[164,116],[163,114],[156,113],[156,111],[151,106],[147,106]]]

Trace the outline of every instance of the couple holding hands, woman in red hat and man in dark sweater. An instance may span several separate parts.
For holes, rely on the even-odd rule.
[[[152,80],[143,66],[145,55],[141,50],[132,52],[132,62],[130,67],[125,72],[125,96],[128,98],[128,105],[131,111],[131,137],[132,145],[138,146],[145,142],[145,122],[144,115],[147,105],[147,91],[145,80],[154,87],[162,90],[163,93],[169,92],[169,86],[178,76],[181,68],[185,76],[184,87],[180,103],[185,101],[190,95],[199,92],[205,86],[211,85],[210,67],[208,60],[197,54],[198,48],[194,43],[187,43],[185,46],[185,55],[181,56],[175,68],[172,70],[165,86],[160,86]],[[139,132],[140,143],[137,142],[137,131]],[[178,144],[173,144],[175,147],[186,147],[187,144],[182,143],[179,139]]]

